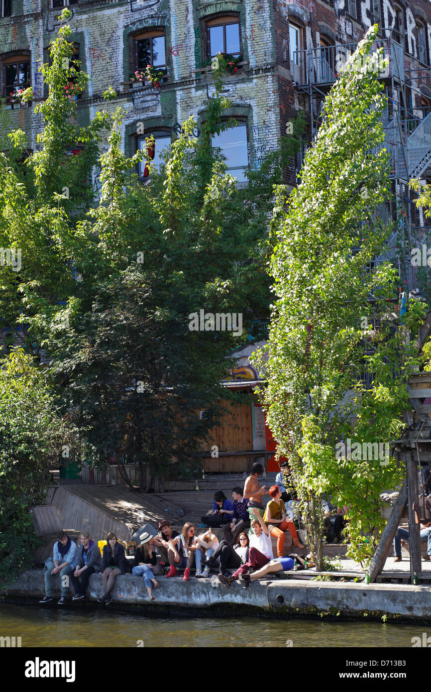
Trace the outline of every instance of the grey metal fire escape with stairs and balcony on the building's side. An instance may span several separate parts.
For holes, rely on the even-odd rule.
[[[293,53],[293,85],[309,100],[312,138],[315,138],[321,122],[324,97],[357,45],[319,46]],[[416,269],[411,265],[410,251],[421,244],[431,243],[431,226],[423,224],[423,215],[420,215],[420,225],[414,225],[412,192],[407,185],[412,178],[431,179],[431,109],[414,107],[410,99],[414,98],[414,93],[421,94],[419,84],[431,86],[431,69],[410,55],[408,60],[415,69],[407,69],[404,48],[392,38],[378,39],[372,46],[372,53],[378,48],[383,48],[387,60],[386,69],[380,76],[387,98],[382,116],[385,142],[381,148],[389,152],[389,178],[393,181],[394,199],[380,205],[374,214],[383,226],[394,224],[394,233],[385,252],[374,262],[392,260],[398,266],[405,288],[411,291],[416,287]],[[405,247],[405,258],[401,263],[396,249],[400,232],[403,232],[401,237]]]

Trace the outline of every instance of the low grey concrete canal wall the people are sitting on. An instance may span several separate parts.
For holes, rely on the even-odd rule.
[[[208,612],[232,615],[235,612],[260,617],[367,617],[431,623],[429,586],[272,579],[256,581],[248,589],[236,582],[226,589],[215,574],[208,579],[192,577],[189,581],[183,581],[180,577],[167,579],[161,576],[157,579],[160,588],[154,589],[156,600],[150,602],[142,578],[118,576],[111,592],[113,603],[109,609],[138,610],[154,615],[169,613],[182,617],[208,617]],[[73,608],[82,605],[103,608],[103,605],[96,603],[102,593],[102,578],[100,574],[93,574],[89,581],[88,600],[84,603],[68,603]],[[24,572],[7,592],[0,594],[3,602],[37,603],[45,594],[42,570]],[[59,596],[59,577],[55,576],[53,597],[57,599]],[[52,605],[57,607],[56,600]]]

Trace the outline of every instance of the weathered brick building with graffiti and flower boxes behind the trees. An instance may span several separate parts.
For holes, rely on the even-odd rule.
[[[235,116],[238,127],[221,134],[217,144],[239,181],[242,167],[258,167],[299,110],[309,122],[306,148],[318,129],[324,95],[368,26],[377,22],[382,27],[378,44],[389,57],[382,75],[388,97],[383,124],[398,204],[380,213],[387,219],[402,212],[409,233],[417,242],[423,239],[423,215],[412,210],[405,185],[410,177],[431,173],[428,0],[414,5],[403,0],[0,0],[0,89],[9,101],[11,92],[29,85],[35,101],[44,98],[38,67],[48,60],[64,5],[73,15],[74,57],[90,76],[77,97],[77,118],[85,124],[101,107],[121,104],[127,111],[123,134],[129,155],[153,134],[157,162],[190,115],[199,131],[205,101],[214,93],[211,57],[224,51],[238,60],[237,73],[225,83],[232,100],[226,116]],[[135,71],[148,63],[165,73],[158,88],[136,81]],[[102,100],[108,86],[118,93],[109,104]],[[8,104],[11,125],[28,133],[30,149],[37,148],[42,129],[34,103]],[[301,156],[288,171],[291,184]],[[143,165],[140,175],[145,173]]]

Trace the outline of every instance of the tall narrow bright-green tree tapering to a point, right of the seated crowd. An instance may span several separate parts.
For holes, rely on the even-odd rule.
[[[401,434],[413,365],[388,302],[397,295],[394,266],[371,264],[389,233],[374,210],[390,197],[378,55],[369,60],[376,36],[374,26],[327,96],[302,183],[291,197],[279,188],[271,260],[277,300],[268,361],[262,353],[255,358],[268,381],[262,401],[278,453],[291,459],[318,569],[325,493],[338,506],[349,504],[349,555],[366,562],[384,525],[378,495],[402,475],[392,457],[363,459],[362,446]],[[414,307],[408,322],[414,329]],[[371,388],[361,378],[366,373],[374,375]],[[336,454],[347,438],[360,444],[360,456]]]

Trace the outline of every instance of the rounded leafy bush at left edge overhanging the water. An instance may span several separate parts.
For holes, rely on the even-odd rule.
[[[0,360],[0,583],[7,585],[33,565],[39,545],[29,513],[42,504],[49,468],[64,446],[71,459],[82,452],[77,430],[53,410],[46,370],[33,367],[21,349]]]

